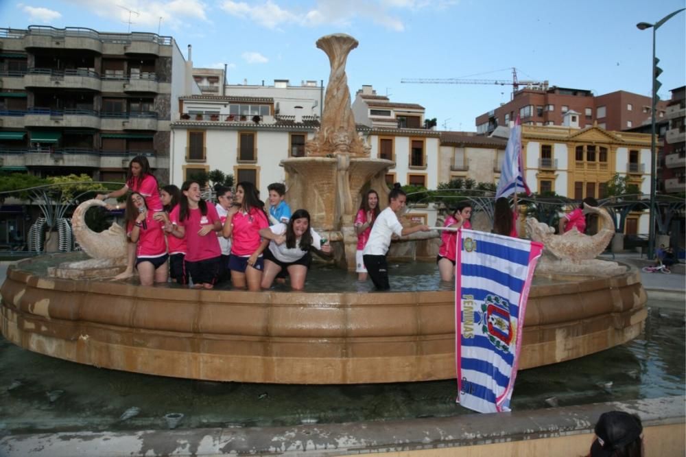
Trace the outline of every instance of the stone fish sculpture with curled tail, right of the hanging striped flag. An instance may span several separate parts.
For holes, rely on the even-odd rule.
[[[615,226],[607,211],[584,205],[584,214],[598,214],[603,220],[602,229],[595,235],[584,235],[574,227],[563,235],[555,235],[555,229],[535,218],[527,218],[526,228],[533,241],[543,243],[544,256],[539,262],[538,272],[600,274],[606,276],[624,270],[615,262],[597,260],[615,235]]]

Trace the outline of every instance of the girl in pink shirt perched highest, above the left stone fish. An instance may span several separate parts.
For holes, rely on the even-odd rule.
[[[157,188],[157,180],[152,174],[150,163],[148,163],[145,156],[135,156],[129,162],[129,172],[126,178],[126,184],[119,190],[110,192],[109,194],[99,194],[95,198],[98,200],[106,200],[108,198],[119,198],[126,195],[128,191],[138,192],[145,198],[145,206],[147,209],[156,213],[162,211],[162,202],[160,200],[159,191]],[[106,208],[112,211],[119,209],[119,204],[107,204]],[[114,279],[126,279],[133,276],[133,264],[136,259],[136,246],[128,244],[127,248],[128,262],[126,270],[121,274],[117,274]]]

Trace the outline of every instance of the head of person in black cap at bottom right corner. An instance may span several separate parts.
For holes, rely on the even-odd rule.
[[[587,457],[643,457],[643,424],[636,414],[604,412],[594,431],[595,439]]]

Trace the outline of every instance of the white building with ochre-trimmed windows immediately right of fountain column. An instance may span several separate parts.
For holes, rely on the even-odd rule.
[[[436,189],[440,173],[440,134],[425,129],[424,107],[414,103],[391,102],[377,95],[370,85],[362,86],[352,105],[370,156],[394,161],[386,175],[388,183]]]

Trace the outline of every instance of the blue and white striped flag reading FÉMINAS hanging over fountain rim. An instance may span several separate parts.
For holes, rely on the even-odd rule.
[[[543,244],[460,230],[455,277],[458,402],[510,410],[526,301]]]

